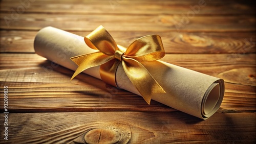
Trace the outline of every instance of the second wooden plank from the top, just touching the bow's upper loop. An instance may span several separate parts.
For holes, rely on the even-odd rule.
[[[14,16],[13,16],[14,17]],[[39,30],[53,26],[67,31],[93,31],[103,25],[118,32],[251,32],[254,15],[201,16],[182,15],[103,15],[103,14],[11,14],[0,15],[0,28],[6,30]],[[29,23],[29,25],[28,25]],[[118,23],[118,25],[113,25]]]

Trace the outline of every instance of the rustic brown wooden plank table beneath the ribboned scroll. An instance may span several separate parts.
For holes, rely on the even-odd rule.
[[[87,133],[86,138],[96,142],[255,143],[253,1],[0,4],[0,143],[82,143],[89,131],[95,135]],[[33,40],[41,28],[53,26],[86,36],[99,25],[124,46],[144,35],[160,35],[166,51],[163,61],[224,79],[221,108],[203,121],[156,101],[147,105],[136,94],[85,74],[70,81],[74,71],[34,53]]]

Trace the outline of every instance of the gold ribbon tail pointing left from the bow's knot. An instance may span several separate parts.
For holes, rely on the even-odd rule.
[[[85,54],[85,55],[80,55],[80,56],[70,58],[72,61],[74,61],[78,65],[75,73],[73,74],[70,80],[74,79],[83,70],[86,70],[90,67],[104,64],[112,60],[113,58],[114,56],[104,55],[101,52],[95,52],[91,54]]]

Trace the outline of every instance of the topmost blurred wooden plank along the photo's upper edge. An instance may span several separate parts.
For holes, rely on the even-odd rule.
[[[26,13],[68,14],[255,14],[251,1],[2,1],[1,12],[12,13],[23,6]]]

